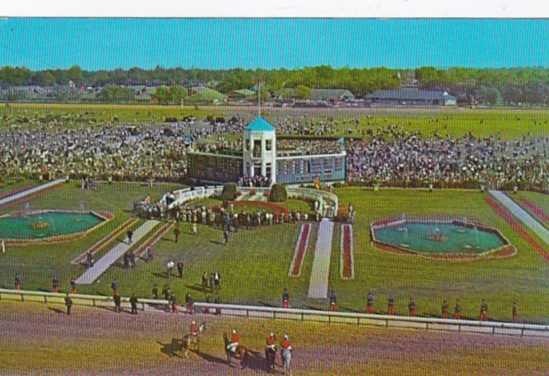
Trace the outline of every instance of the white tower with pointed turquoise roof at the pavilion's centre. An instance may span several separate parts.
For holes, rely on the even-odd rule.
[[[261,175],[277,181],[277,136],[274,127],[258,117],[244,128],[244,176]]]

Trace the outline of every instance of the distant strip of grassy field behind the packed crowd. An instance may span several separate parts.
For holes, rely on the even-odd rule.
[[[32,126],[26,119],[58,116],[63,126],[78,128],[104,124],[124,124],[131,121],[163,121],[165,117],[181,119],[187,115],[204,118],[207,115],[233,115],[235,113],[255,113],[254,106],[247,108],[227,106],[206,106],[198,110],[192,106],[158,106],[151,104],[10,104],[9,108],[0,105],[0,128],[19,124]],[[525,137],[546,137],[549,132],[548,110],[523,109],[340,109],[310,110],[296,108],[266,108],[264,116],[276,123],[288,115],[305,116],[308,119],[334,119],[338,124],[332,127],[334,134],[363,136],[366,130],[398,126],[403,130],[420,131],[424,136],[454,134],[462,136],[473,132],[478,137],[500,135],[504,139]],[[346,120],[358,118],[358,126]],[[234,139],[234,137],[230,137]]]

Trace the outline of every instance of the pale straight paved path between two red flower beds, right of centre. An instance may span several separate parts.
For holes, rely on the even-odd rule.
[[[314,247],[313,268],[309,281],[309,298],[328,297],[328,277],[330,274],[331,238],[334,235],[334,222],[324,219],[318,226],[318,236]]]

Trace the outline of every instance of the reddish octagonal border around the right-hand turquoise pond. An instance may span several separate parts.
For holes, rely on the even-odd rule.
[[[393,244],[386,244],[384,242],[380,242],[375,238],[375,228],[381,228],[385,226],[390,226],[393,224],[404,224],[407,221],[404,219],[398,219],[398,218],[390,218],[387,220],[380,220],[376,222],[372,222],[370,224],[370,237],[371,237],[371,245],[373,248],[376,248],[378,250],[382,250],[384,252],[392,253],[393,255],[408,255],[408,256],[419,256],[423,257],[425,259],[432,259],[432,260],[444,260],[444,261],[473,261],[477,259],[504,259],[507,257],[513,257],[517,254],[517,248],[509,242],[509,239],[507,239],[497,228],[488,226],[486,224],[482,224],[480,222],[464,222],[462,220],[414,220],[414,222],[423,222],[423,223],[447,223],[447,224],[457,224],[459,226],[464,226],[467,228],[482,228],[483,231],[487,231],[490,233],[495,233],[495,235],[498,235],[503,241],[504,244],[498,248],[493,248],[491,250],[486,250],[484,252],[480,253],[441,253],[441,254],[430,254],[426,252],[420,252],[418,250],[411,250],[409,248],[399,247],[395,246]]]

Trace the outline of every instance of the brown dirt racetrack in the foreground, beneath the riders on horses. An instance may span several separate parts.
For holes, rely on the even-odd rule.
[[[139,312],[132,316],[107,309],[73,307],[73,314],[67,316],[62,308],[33,303],[0,304],[0,348],[5,349],[0,353],[0,373],[260,374],[266,373],[263,343],[269,331],[275,331],[279,337],[290,333],[295,348],[294,374],[379,374],[395,370],[428,374],[431,366],[433,370],[443,365],[452,367],[466,358],[468,366],[474,367],[476,357],[482,360],[481,369],[491,370],[490,373],[516,374],[520,368],[513,365],[519,366],[519,360],[529,362],[530,374],[549,372],[549,342],[543,339],[200,315],[194,319],[206,321],[207,331],[202,336],[201,351],[191,353],[187,360],[180,342],[191,320],[185,314]],[[242,344],[251,351],[245,370],[226,364],[222,333],[233,327],[240,331]],[[487,361],[490,357],[496,360]],[[280,369],[277,367],[277,371]]]

